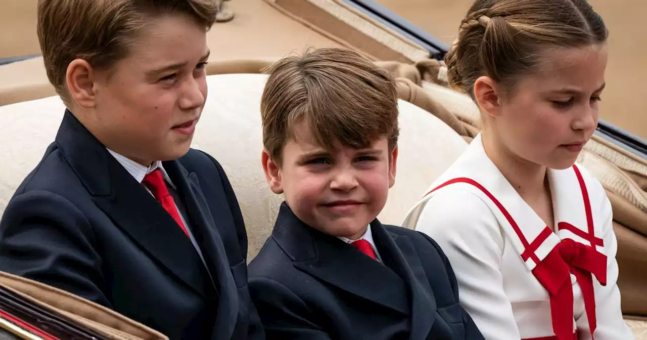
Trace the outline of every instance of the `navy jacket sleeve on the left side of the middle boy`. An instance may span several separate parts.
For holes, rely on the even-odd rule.
[[[330,340],[314,320],[305,302],[289,288],[270,278],[250,279],[250,293],[256,304],[267,339]]]

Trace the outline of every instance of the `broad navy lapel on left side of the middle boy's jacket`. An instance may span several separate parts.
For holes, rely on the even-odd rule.
[[[305,225],[285,203],[272,238],[305,273],[377,305],[410,313],[406,285],[395,272],[342,240]]]

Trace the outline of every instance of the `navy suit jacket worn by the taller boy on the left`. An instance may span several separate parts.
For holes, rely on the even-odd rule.
[[[243,216],[223,168],[197,150],[162,164],[206,266],[170,214],[66,111],[0,221],[0,270],[171,339],[263,339],[247,286]]]

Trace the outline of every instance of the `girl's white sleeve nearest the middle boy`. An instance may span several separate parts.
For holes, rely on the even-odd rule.
[[[520,339],[503,290],[503,235],[487,205],[470,192],[439,192],[422,210],[416,230],[443,249],[455,273],[461,305],[483,337]]]

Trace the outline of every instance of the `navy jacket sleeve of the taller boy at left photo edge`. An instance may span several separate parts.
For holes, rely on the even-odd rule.
[[[111,307],[92,228],[67,199],[45,191],[15,196],[0,221],[0,270]]]

